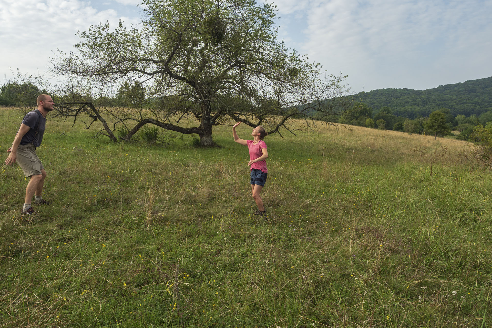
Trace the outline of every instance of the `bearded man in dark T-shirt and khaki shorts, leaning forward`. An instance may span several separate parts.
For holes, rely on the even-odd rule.
[[[41,146],[46,127],[46,114],[53,110],[55,102],[47,94],[39,95],[36,102],[37,109],[29,112],[22,120],[12,147],[7,150],[10,154],[5,160],[7,165],[12,165],[17,161],[22,171],[24,171],[24,175],[30,178],[26,188],[24,207],[22,208],[22,214],[27,215],[35,214],[31,206],[32,195],[34,194],[34,204],[49,205],[49,202],[42,197],[46,171],[35,150]]]

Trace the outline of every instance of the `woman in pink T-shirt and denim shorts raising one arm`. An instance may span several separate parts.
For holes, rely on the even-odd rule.
[[[263,126],[259,125],[253,129],[251,135],[253,136],[253,140],[244,140],[239,139],[238,134],[236,133],[236,126],[241,124],[241,122],[237,122],[232,127],[232,136],[234,137],[234,141],[247,146],[249,149],[249,159],[250,161],[247,163],[248,166],[251,167],[251,192],[253,194],[253,199],[258,205],[258,210],[253,213],[253,215],[265,216],[266,210],[263,205],[263,200],[260,197],[260,192],[268,176],[267,170],[267,162],[268,151],[267,144],[263,141],[263,138],[268,134]]]

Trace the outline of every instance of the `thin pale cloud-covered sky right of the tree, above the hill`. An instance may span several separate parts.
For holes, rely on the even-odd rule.
[[[301,3],[302,4],[301,4]],[[426,89],[492,75],[490,1],[277,0],[280,36],[330,73],[349,74],[353,91]],[[295,19],[303,13],[305,22]],[[289,40],[286,38],[286,41]],[[289,40],[290,41],[290,40]]]

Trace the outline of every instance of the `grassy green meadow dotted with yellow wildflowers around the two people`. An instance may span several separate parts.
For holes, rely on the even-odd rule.
[[[0,327],[492,327],[492,174],[466,142],[267,136],[263,221],[230,126],[202,149],[51,119],[53,204],[26,218],[27,180],[3,164],[21,119],[0,109]]]

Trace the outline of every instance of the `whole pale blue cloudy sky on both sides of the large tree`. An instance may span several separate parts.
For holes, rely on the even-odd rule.
[[[0,0],[0,84],[47,71],[77,30],[141,22],[140,0]],[[278,38],[351,93],[492,76],[490,0],[274,0]],[[49,76],[49,73],[46,75]]]

